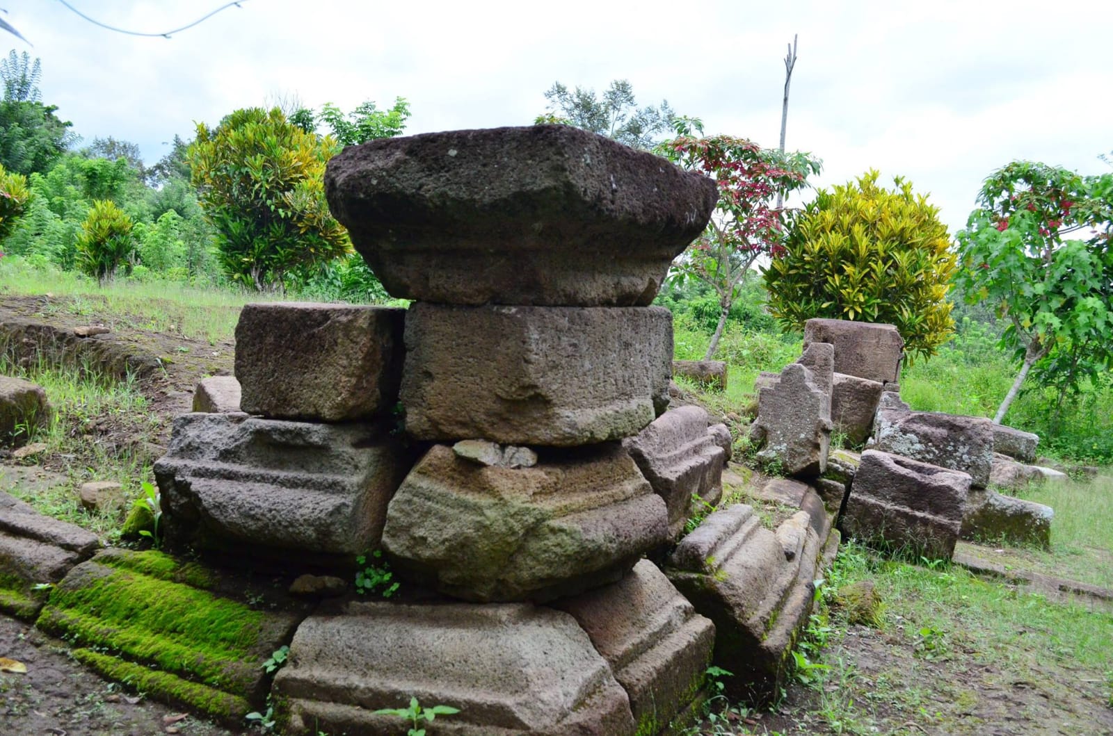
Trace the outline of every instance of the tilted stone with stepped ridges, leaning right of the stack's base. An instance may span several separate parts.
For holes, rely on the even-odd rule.
[[[703,519],[669,558],[669,579],[715,623],[713,662],[733,673],[731,697],[767,703],[780,693],[811,614],[819,549],[806,511],[774,533],[738,505]]]

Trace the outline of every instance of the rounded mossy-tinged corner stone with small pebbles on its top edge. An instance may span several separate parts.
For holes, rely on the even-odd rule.
[[[667,539],[664,501],[618,444],[530,468],[434,445],[391,501],[383,548],[400,575],[446,595],[541,601],[612,583]]]

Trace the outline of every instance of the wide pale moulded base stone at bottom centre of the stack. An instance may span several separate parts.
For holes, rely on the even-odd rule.
[[[568,614],[524,604],[348,603],[294,636],[275,677],[290,736],[395,736],[416,697],[446,736],[633,736],[626,692]],[[405,726],[401,726],[405,729]]]

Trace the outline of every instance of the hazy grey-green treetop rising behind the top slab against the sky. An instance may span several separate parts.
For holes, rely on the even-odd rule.
[[[626,79],[617,79],[598,96],[593,89],[569,89],[560,82],[545,92],[549,108],[536,117],[535,123],[561,123],[590,130],[613,138],[631,148],[649,150],[673,131],[677,117],[662,100],[660,107],[639,108],[633,87]]]

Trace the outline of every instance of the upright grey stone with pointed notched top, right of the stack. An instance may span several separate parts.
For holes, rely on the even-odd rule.
[[[821,381],[820,381],[821,382]],[[814,477],[827,467],[830,442],[830,395],[811,371],[794,362],[785,366],[777,385],[758,395],[755,435],[762,444],[758,459],[778,464],[786,475]]]

